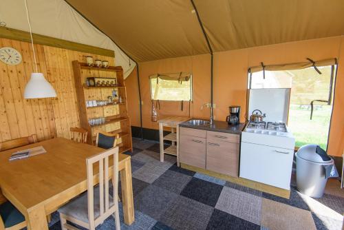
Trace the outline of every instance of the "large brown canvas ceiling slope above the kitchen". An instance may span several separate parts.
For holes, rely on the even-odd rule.
[[[66,0],[136,61],[208,53],[189,0]],[[194,0],[214,52],[344,34],[343,0]]]

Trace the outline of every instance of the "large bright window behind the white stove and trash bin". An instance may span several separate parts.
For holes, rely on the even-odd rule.
[[[262,71],[255,72],[248,87],[291,88],[288,127],[294,135],[296,146],[316,144],[326,150],[333,105],[335,66],[321,66],[318,69],[322,74],[317,73],[314,67],[266,71],[265,79]]]

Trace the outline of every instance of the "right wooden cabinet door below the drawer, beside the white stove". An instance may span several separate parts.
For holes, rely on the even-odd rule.
[[[225,141],[206,141],[206,169],[238,176],[239,144]]]

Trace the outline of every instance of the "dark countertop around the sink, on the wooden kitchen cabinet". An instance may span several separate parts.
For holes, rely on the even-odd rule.
[[[228,134],[241,134],[245,127],[245,123],[239,125],[228,125],[226,121],[214,121],[212,125],[190,125],[186,122],[180,123],[180,127],[188,127],[193,129],[203,129],[215,132],[224,132]]]

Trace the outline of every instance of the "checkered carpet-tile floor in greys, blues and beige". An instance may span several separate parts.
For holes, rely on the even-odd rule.
[[[279,198],[180,169],[173,156],[160,163],[158,143],[134,138],[133,146],[136,221],[124,224],[120,204],[121,229],[342,229],[344,194],[332,189],[336,180],[313,199],[296,191],[293,176],[290,199]],[[50,229],[61,229],[56,213]],[[97,229],[114,229],[114,218]]]

